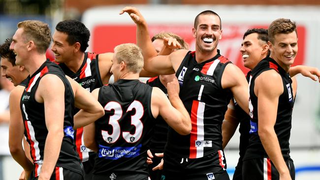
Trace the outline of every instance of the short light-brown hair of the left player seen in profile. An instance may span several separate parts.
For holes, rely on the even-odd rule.
[[[26,42],[32,40],[38,53],[47,51],[52,39],[48,24],[36,20],[27,20],[18,23],[17,27],[23,28]]]

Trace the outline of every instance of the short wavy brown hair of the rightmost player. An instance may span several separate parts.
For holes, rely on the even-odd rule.
[[[276,34],[288,34],[293,31],[297,33],[295,22],[284,18],[277,19],[273,21],[268,28],[269,41],[273,44]]]

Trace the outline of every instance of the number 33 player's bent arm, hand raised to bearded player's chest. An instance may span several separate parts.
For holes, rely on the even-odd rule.
[[[190,115],[179,98],[179,83],[177,79],[167,84],[167,91],[170,101],[159,88],[153,88],[151,98],[152,114],[154,117],[160,115],[179,134],[190,134]]]

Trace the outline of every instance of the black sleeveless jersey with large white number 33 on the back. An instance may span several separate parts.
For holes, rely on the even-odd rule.
[[[139,80],[120,79],[99,90],[105,115],[95,122],[99,150],[94,174],[148,176],[146,151],[155,123],[151,94],[152,87]]]

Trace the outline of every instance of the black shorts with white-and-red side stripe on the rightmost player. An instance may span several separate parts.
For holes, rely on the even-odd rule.
[[[291,158],[285,161],[291,179],[295,179],[294,165]],[[243,180],[279,180],[279,173],[270,158],[254,158],[243,161]]]

